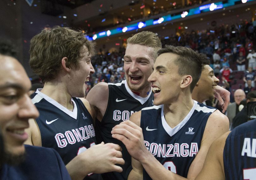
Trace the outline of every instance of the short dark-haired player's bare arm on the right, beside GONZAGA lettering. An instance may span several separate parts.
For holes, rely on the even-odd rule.
[[[187,178],[195,179],[202,170],[204,160],[211,144],[222,134],[229,131],[229,120],[219,110],[214,111],[208,118],[204,135],[201,141],[201,147],[191,163]]]

